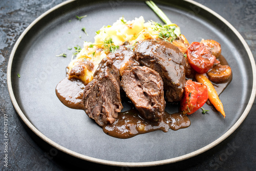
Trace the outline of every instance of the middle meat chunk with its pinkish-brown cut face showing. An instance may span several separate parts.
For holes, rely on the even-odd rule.
[[[123,71],[121,86],[140,115],[151,122],[163,119],[165,100],[160,75],[148,67]]]

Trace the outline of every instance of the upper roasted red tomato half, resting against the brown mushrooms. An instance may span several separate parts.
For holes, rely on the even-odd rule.
[[[216,57],[203,43],[193,42],[187,48],[187,59],[190,66],[200,74],[207,73],[214,65]]]

